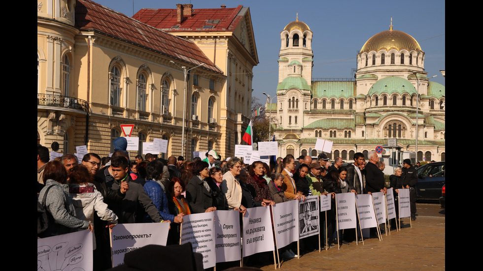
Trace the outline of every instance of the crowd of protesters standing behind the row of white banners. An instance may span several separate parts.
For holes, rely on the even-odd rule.
[[[247,208],[304,201],[311,195],[334,198],[337,193],[385,193],[387,189],[380,184],[384,165],[378,163],[375,152],[369,153],[367,163],[362,153],[356,153],[346,167],[340,157],[331,163],[324,153],[317,159],[287,155],[247,165],[235,157],[221,160],[214,150],[193,161],[182,156],[165,160],[150,153],[130,161],[126,146],[125,139],[118,138],[111,157],[87,153],[78,161],[73,154],[65,154],[49,161],[48,149],[37,145],[37,199],[47,217],[45,223],[38,223],[37,236],[94,230],[94,270],[110,268],[108,229],[117,223],[171,223],[168,244],[178,244],[183,216],[191,213],[237,210],[243,215]],[[414,183],[404,179],[401,168],[396,169],[391,187],[398,191],[406,185]],[[338,237],[339,243],[346,244],[355,239],[355,230],[335,231],[335,218],[333,203],[327,212],[331,247]],[[320,216],[322,224],[325,216]],[[315,249],[317,237],[303,239],[302,245],[307,251]],[[281,248],[281,257],[296,257],[292,249],[292,244]]]

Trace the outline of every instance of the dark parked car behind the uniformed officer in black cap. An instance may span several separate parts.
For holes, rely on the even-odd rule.
[[[417,169],[416,199],[437,200],[441,197],[441,187],[446,184],[446,162],[435,162]]]

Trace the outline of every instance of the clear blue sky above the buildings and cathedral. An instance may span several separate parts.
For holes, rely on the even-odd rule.
[[[133,16],[141,8],[176,8],[178,0],[94,0]],[[316,78],[353,78],[357,52],[373,35],[394,30],[412,35],[425,53],[424,67],[431,81],[445,84],[446,3],[444,0],[191,0],[193,9],[243,5],[250,8],[258,60],[253,68],[253,96],[262,103],[276,94],[280,32],[290,22],[306,23],[313,32],[313,70]],[[188,2],[188,3],[189,3]],[[133,12],[134,10],[134,12]],[[275,99],[274,99],[275,102]]]

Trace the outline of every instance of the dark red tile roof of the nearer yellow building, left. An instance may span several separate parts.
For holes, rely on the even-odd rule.
[[[193,65],[205,63],[200,68],[223,73],[192,41],[143,24],[90,0],[77,0],[75,26],[79,30],[94,30]]]

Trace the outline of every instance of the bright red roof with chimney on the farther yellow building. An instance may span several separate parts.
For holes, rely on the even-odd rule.
[[[193,8],[191,17],[185,18],[179,25],[176,22],[176,8],[143,8],[134,14],[133,18],[168,32],[233,31],[243,17],[239,14],[242,8],[242,5],[235,8]],[[220,22],[208,23],[208,20],[220,20]],[[173,26],[179,27],[173,28]],[[212,26],[212,28],[203,28],[205,26]]]

